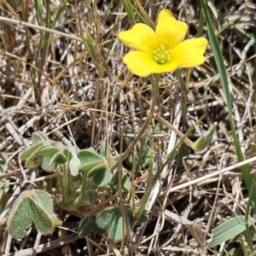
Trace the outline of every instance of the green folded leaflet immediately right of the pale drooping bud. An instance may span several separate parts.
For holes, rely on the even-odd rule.
[[[88,171],[96,166],[101,166],[106,162],[101,155],[91,149],[83,149],[79,151],[78,158],[81,161],[80,169],[82,171]]]

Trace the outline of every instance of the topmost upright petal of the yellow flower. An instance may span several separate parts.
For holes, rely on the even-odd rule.
[[[167,49],[173,49],[183,41],[187,31],[187,24],[177,21],[170,10],[160,11],[155,28],[157,45],[163,44]]]

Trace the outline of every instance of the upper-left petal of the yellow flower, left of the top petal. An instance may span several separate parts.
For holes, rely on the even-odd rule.
[[[155,32],[143,23],[137,23],[131,30],[119,32],[119,39],[126,46],[148,55],[152,55],[153,50],[156,49]]]

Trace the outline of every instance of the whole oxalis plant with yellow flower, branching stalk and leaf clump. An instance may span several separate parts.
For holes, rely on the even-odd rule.
[[[147,17],[146,17],[147,18]],[[147,21],[148,19],[145,19]],[[119,40],[130,47],[131,50],[123,58],[131,73],[139,77],[149,76],[153,89],[151,108],[148,117],[144,121],[137,137],[125,149],[125,153],[113,163],[112,169],[130,157],[131,150],[148,128],[151,119],[156,119],[160,125],[176,132],[182,141],[195,151],[204,150],[212,141],[212,136],[217,124],[192,143],[187,137],[178,131],[173,125],[161,117],[161,113],[155,113],[159,93],[160,73],[176,71],[183,91],[187,89],[178,68],[195,67],[201,65],[207,49],[206,38],[189,38],[183,40],[187,34],[188,26],[183,21],[175,19],[172,12],[167,9],[160,11],[156,26],[151,21],[137,23],[131,30],[119,32]],[[171,38],[171,39],[170,39]],[[90,49],[93,44],[85,43]],[[92,51],[93,52],[93,51]],[[174,153],[173,153],[174,154]],[[170,154],[172,155],[172,154]],[[122,201],[125,194],[131,189],[131,182],[122,172],[110,172],[108,162],[102,154],[95,150],[77,149],[66,147],[61,143],[49,140],[44,133],[38,131],[32,135],[32,146],[20,155],[21,160],[26,160],[26,166],[30,169],[40,166],[46,172],[55,172],[57,178],[57,190],[55,204],[51,195],[44,189],[30,189],[22,192],[9,214],[8,230],[15,238],[26,236],[26,230],[34,224],[42,234],[50,234],[55,226],[61,225],[61,220],[54,212],[55,208],[63,209],[82,218],[79,224],[79,236],[90,233],[105,234],[113,241],[119,241],[130,233],[131,226],[142,224],[147,220],[143,212],[150,188],[155,180],[160,177],[160,171],[153,177],[153,168],[149,168],[148,185],[143,203],[136,209]],[[143,157],[147,160],[148,155]],[[108,191],[108,192],[107,192]],[[107,194],[108,193],[108,194]],[[109,195],[105,200],[106,195]],[[114,201],[115,205],[108,203]]]

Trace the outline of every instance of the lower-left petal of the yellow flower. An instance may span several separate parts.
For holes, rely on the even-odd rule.
[[[138,50],[133,50],[126,54],[123,61],[132,73],[143,78],[154,73],[154,67],[158,65],[151,55],[147,55]]]

